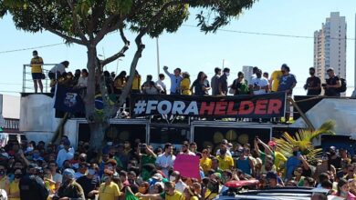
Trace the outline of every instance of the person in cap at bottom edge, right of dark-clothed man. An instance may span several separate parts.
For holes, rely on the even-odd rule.
[[[83,188],[75,181],[75,172],[73,169],[66,169],[63,172],[63,184],[58,189],[59,199],[82,199],[85,200]]]

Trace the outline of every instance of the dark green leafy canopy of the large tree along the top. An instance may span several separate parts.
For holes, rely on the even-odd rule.
[[[205,33],[227,25],[256,0],[0,0],[0,17],[9,12],[15,25],[29,32],[53,30],[62,37],[94,39],[118,30],[156,37],[174,33],[188,19],[189,9],[202,9],[197,25]],[[170,5],[170,6],[167,6]],[[73,8],[73,9],[72,9]],[[160,12],[162,11],[162,12]],[[157,14],[162,14],[156,17]],[[210,17],[214,16],[214,17]],[[75,23],[78,19],[78,24]],[[153,19],[153,21],[152,21]],[[58,33],[60,34],[58,34]],[[67,38],[68,39],[68,38]],[[99,43],[96,41],[96,44]]]

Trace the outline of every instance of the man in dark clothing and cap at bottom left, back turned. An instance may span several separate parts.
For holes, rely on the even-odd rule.
[[[22,200],[47,200],[48,190],[43,180],[36,175],[36,164],[27,166],[27,174],[21,178],[19,183],[20,198]]]

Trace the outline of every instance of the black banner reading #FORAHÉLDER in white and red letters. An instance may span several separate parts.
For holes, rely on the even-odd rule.
[[[231,96],[131,95],[131,116],[270,118],[284,116],[285,105],[285,93]]]

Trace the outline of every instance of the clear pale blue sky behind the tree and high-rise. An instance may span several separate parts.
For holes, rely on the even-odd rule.
[[[230,25],[223,27],[227,30],[313,36],[315,30],[321,27],[330,12],[340,12],[346,16],[349,38],[355,38],[354,0],[260,0],[250,10],[246,10]],[[195,15],[184,25],[196,25]],[[48,32],[31,34],[17,30],[11,16],[6,15],[0,20],[1,40],[0,52],[22,49],[32,46],[51,45],[63,42],[57,35]],[[120,70],[128,70],[135,51],[134,36],[127,32],[132,41],[131,49],[119,62]],[[145,77],[157,77],[156,44],[155,39],[145,37],[146,49],[138,65],[138,71]],[[304,95],[301,89],[308,77],[309,67],[313,65],[313,39],[293,38],[269,35],[247,35],[233,32],[218,31],[216,34],[200,32],[190,26],[182,26],[174,34],[163,34],[159,38],[161,72],[162,66],[170,66],[170,70],[180,67],[190,72],[195,79],[199,71],[204,71],[209,78],[214,75],[215,66],[225,66],[232,72],[229,77],[232,82],[242,65],[257,65],[263,71],[272,73],[283,63],[291,68],[291,73],[297,75],[298,85],[295,95]],[[106,57],[116,53],[122,46],[120,36],[111,34],[98,45],[100,55]],[[347,80],[353,85],[355,41],[347,42]],[[69,70],[84,68],[87,62],[86,49],[79,45],[56,45],[37,49],[45,63],[59,63],[64,60],[70,62]],[[0,53],[3,73],[0,74],[0,93],[18,95],[22,90],[23,64],[28,64],[32,57],[32,50],[14,53]],[[107,66],[110,71],[116,71],[118,63]],[[165,83],[168,85],[169,80]],[[31,83],[28,83],[31,86]],[[5,91],[11,93],[5,93]],[[350,95],[353,88],[348,88]]]

